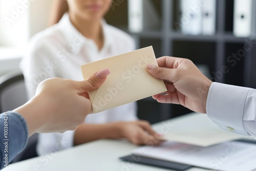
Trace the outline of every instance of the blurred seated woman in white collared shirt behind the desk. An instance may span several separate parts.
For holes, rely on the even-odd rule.
[[[44,79],[82,80],[80,65],[135,49],[131,36],[103,19],[111,0],[57,1],[54,21],[63,11],[68,9],[68,13],[59,23],[32,38],[20,65],[30,98]],[[84,123],[75,131],[40,134],[37,153],[43,155],[101,138],[127,138],[135,144],[159,143],[150,124],[137,120],[135,102],[88,116]]]

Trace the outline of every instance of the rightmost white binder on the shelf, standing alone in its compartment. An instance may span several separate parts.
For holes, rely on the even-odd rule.
[[[233,14],[233,34],[248,37],[252,33],[252,0],[235,0]]]

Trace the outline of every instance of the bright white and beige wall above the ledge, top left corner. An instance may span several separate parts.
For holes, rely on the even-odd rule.
[[[24,45],[47,27],[52,0],[0,0],[0,46]]]

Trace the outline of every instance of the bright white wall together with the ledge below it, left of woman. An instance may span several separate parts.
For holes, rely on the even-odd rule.
[[[0,76],[19,69],[24,54],[20,47],[34,34],[47,28],[52,2],[0,0]]]

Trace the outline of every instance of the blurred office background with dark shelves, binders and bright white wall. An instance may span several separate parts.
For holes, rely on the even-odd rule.
[[[0,0],[0,76],[19,69],[24,45],[47,28],[52,2]],[[105,19],[137,48],[153,46],[156,57],[189,58],[214,81],[256,88],[255,16],[252,0],[113,0]],[[151,123],[191,112],[151,97],[138,106]]]

